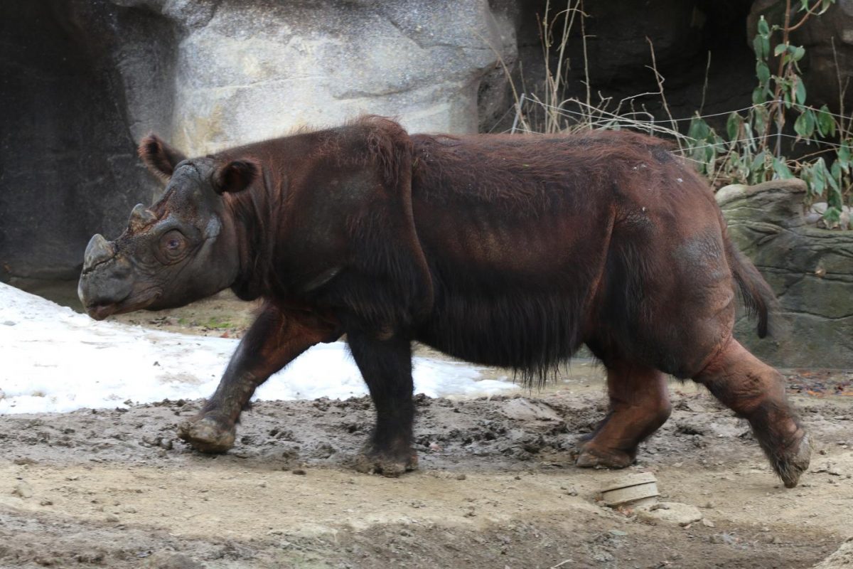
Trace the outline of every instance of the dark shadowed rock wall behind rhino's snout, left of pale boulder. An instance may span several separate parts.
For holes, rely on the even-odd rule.
[[[82,1],[3,2],[0,26],[0,280],[71,277],[92,233],[115,234],[152,197],[129,127],[165,126],[169,74],[148,55],[171,33],[146,11]],[[128,112],[113,73],[134,59],[148,113]]]

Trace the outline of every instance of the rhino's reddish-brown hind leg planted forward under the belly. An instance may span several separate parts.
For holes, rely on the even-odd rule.
[[[657,369],[608,363],[607,392],[610,411],[594,433],[581,439],[578,467],[630,466],[637,445],[670,417],[666,377]]]

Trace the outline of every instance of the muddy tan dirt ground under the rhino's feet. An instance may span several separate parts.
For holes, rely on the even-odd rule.
[[[120,319],[239,336],[250,308]],[[256,403],[223,456],[175,438],[200,401],[0,416],[0,567],[809,567],[853,536],[853,373],[787,375],[817,450],[794,490],[744,421],[671,384],[675,411],[627,472],[698,507],[686,525],[605,507],[626,471],[572,465],[605,411],[586,362],[543,392],[419,396],[420,470],[399,479],[348,467],[367,398]]]

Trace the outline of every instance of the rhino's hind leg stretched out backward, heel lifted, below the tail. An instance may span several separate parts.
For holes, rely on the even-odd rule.
[[[693,380],[749,421],[770,466],[793,488],[809,467],[809,437],[785,396],[782,375],[729,339]]]

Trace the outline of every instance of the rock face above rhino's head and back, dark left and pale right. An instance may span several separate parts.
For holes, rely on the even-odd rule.
[[[160,189],[136,160],[148,131],[190,154],[361,113],[476,132],[480,93],[502,92],[498,61],[515,59],[506,10],[487,0],[0,3],[0,280],[78,275],[90,235],[117,235]]]

